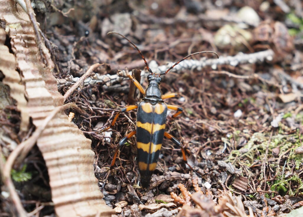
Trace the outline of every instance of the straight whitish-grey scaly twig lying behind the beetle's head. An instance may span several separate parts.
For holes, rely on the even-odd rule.
[[[274,58],[274,51],[264,50],[256,53],[238,53],[235,56],[220,57],[219,59],[205,59],[200,60],[184,60],[178,65],[176,65],[171,71],[176,73],[181,73],[184,70],[201,70],[203,67],[211,66],[212,69],[217,69],[220,65],[231,65],[237,66],[238,64],[247,64],[247,63],[257,63],[263,62],[265,60],[271,61]],[[149,66],[154,65],[152,69],[155,73],[163,73],[174,63],[168,62],[165,65],[158,66],[155,61],[151,61]],[[125,79],[126,72],[124,69],[121,69],[116,75],[99,75],[92,74],[90,77],[86,78],[83,82],[83,85],[94,85],[94,84],[104,84],[105,86],[111,86],[114,83],[118,83]],[[141,76],[146,77],[149,74],[147,71],[142,71]],[[67,76],[65,79],[57,79],[58,88],[67,87],[75,84],[79,78],[73,76]]]

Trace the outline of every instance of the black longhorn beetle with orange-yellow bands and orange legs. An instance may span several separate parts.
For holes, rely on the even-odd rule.
[[[128,112],[130,110],[133,110],[135,108],[138,108],[137,110],[137,123],[136,123],[136,130],[128,133],[125,137],[122,138],[122,140],[119,142],[118,147],[116,148],[112,164],[110,167],[110,170],[113,169],[116,161],[116,157],[118,154],[119,149],[126,143],[126,141],[131,138],[133,135],[136,134],[137,137],[137,154],[138,154],[138,167],[141,174],[141,183],[143,188],[147,188],[149,185],[149,181],[151,178],[151,175],[153,174],[154,170],[156,169],[158,158],[160,154],[160,149],[162,146],[163,138],[166,137],[170,139],[173,143],[180,146],[182,155],[183,155],[183,161],[194,171],[194,169],[187,163],[185,151],[182,147],[181,142],[179,142],[175,137],[173,137],[171,134],[165,132],[165,122],[166,122],[166,114],[167,109],[172,109],[177,111],[174,115],[172,115],[173,118],[177,117],[181,112],[183,112],[183,108],[176,106],[176,105],[167,105],[163,99],[168,99],[171,97],[178,96],[177,93],[168,93],[165,95],[162,95],[160,90],[160,83],[161,83],[161,75],[165,75],[169,72],[174,66],[176,66],[181,61],[187,59],[188,57],[194,56],[196,54],[201,53],[214,53],[219,58],[218,54],[213,51],[201,51],[197,53],[189,54],[188,56],[184,57],[179,62],[175,63],[173,66],[171,66],[168,70],[161,74],[153,73],[151,69],[148,67],[148,64],[142,54],[142,52],[139,50],[139,48],[132,43],[127,37],[125,37],[122,34],[119,34],[117,32],[108,32],[107,34],[118,34],[128,40],[130,44],[132,44],[141,55],[142,59],[145,62],[145,65],[147,67],[147,70],[150,72],[150,75],[147,76],[148,79],[148,86],[144,90],[143,87],[140,85],[140,83],[134,79],[131,75],[128,74],[129,79],[135,84],[135,86],[140,90],[140,92],[143,94],[144,98],[142,99],[142,102],[139,103],[139,105],[128,105],[117,113],[114,120],[112,121],[112,124],[105,128],[102,131],[106,131],[110,128],[112,128],[115,125],[115,122],[120,115],[120,113]],[[105,179],[105,182],[103,184],[103,187],[105,186],[105,183],[107,181],[107,178],[109,176],[110,171],[108,172],[108,175]]]

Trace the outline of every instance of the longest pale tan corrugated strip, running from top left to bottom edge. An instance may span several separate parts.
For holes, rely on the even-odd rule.
[[[64,104],[64,97],[58,92],[51,69],[42,63],[36,43],[38,31],[34,30],[29,16],[14,1],[1,0],[0,19],[5,21],[14,59],[22,73],[28,99],[24,107],[39,129],[45,123],[45,118]],[[40,49],[46,58],[48,50]],[[52,68],[53,63],[49,61],[48,66]],[[20,110],[22,112],[22,108]],[[97,213],[110,216],[114,212],[105,205],[98,188],[93,171],[95,155],[91,150],[91,141],[74,123],[68,121],[67,115],[57,113],[37,139],[37,145],[48,167],[57,216],[95,216]],[[7,168],[10,170],[10,165]]]

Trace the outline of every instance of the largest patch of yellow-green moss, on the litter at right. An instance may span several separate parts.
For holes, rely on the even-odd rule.
[[[285,117],[289,116],[290,114],[286,114]],[[281,129],[281,131],[283,130]],[[285,131],[289,132],[287,129]],[[235,167],[247,167],[248,170],[251,169],[251,165],[255,165],[256,162],[259,164],[260,162],[265,162],[267,165],[266,170],[270,167],[270,170],[277,175],[277,180],[267,182],[267,184],[271,186],[272,191],[276,191],[283,196],[286,194],[289,196],[303,194],[303,181],[297,175],[302,167],[303,154],[295,153],[295,150],[302,145],[303,135],[299,130],[297,130],[295,134],[289,135],[277,134],[277,131],[274,133],[276,135],[271,135],[270,132],[254,133],[244,147],[231,151],[226,161],[232,162]],[[228,140],[228,142],[231,143],[233,138],[239,137],[240,135],[241,134],[234,133],[233,137],[229,139],[224,138],[222,141],[225,142],[225,140]],[[279,147],[279,152],[277,153],[275,151],[278,156],[273,155],[273,149],[276,147]],[[287,161],[284,166],[284,164],[280,164],[280,160],[285,159],[285,157],[287,157]],[[294,165],[295,168],[293,168]],[[259,181],[263,180],[263,175],[264,173],[260,174],[258,177]],[[275,196],[275,193],[265,196],[271,198]]]

